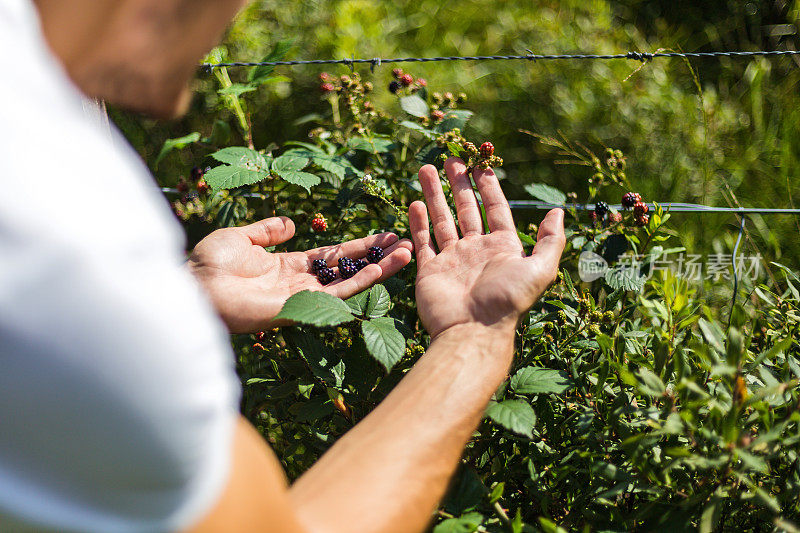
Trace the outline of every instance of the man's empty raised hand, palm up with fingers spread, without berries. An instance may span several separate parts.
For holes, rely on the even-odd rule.
[[[533,254],[526,257],[495,173],[491,169],[473,173],[486,212],[489,232],[485,233],[464,162],[450,158],[444,166],[461,237],[434,166],[419,171],[425,203],[417,201],[409,208],[422,324],[432,338],[461,324],[511,332],[519,316],[556,278],[565,242],[563,210],[547,214]],[[429,213],[439,253],[431,240]]]

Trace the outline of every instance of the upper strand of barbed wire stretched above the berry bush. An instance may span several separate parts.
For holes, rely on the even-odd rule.
[[[229,61],[222,63],[203,63],[200,66],[206,70],[213,71],[215,68],[235,68],[235,67],[280,67],[296,65],[346,65],[351,69],[355,65],[368,64],[371,69],[380,67],[383,64],[392,63],[430,63],[436,61],[548,61],[548,60],[569,60],[569,59],[630,59],[645,63],[657,58],[712,58],[712,57],[765,57],[765,56],[791,56],[800,55],[800,50],[755,50],[755,51],[732,51],[732,52],[625,52],[621,54],[535,54],[527,50],[525,55],[491,55],[491,56],[437,56],[437,57],[393,57],[372,59],[363,58],[344,58],[344,59],[297,59],[291,61]]]

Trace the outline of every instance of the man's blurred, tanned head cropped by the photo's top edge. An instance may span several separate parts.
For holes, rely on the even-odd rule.
[[[182,114],[198,61],[248,0],[34,0],[50,47],[88,96]]]

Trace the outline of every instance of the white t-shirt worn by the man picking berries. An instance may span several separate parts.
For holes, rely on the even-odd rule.
[[[240,386],[147,169],[0,0],[0,531],[170,531],[227,482]]]

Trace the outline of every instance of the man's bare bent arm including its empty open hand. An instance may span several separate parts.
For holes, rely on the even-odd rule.
[[[240,425],[228,488],[197,531],[394,533],[423,531],[464,445],[503,381],[518,317],[555,279],[563,213],[551,211],[525,257],[491,171],[479,171],[489,233],[463,162],[445,164],[459,237],[435,168],[423,167],[427,202],[412,204],[416,296],[433,341],[387,398],[291,488],[266,444]],[[428,210],[439,252],[429,234]]]

